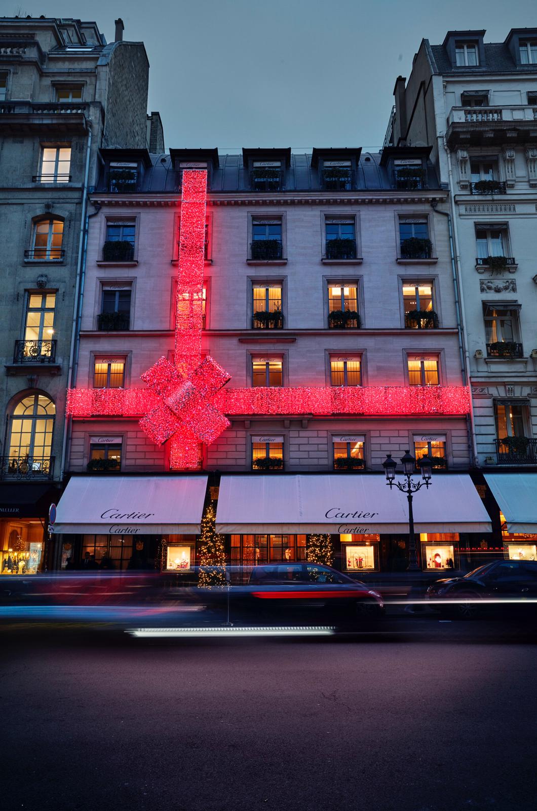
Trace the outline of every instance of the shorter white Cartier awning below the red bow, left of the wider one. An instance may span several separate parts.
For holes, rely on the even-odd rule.
[[[198,534],[207,476],[73,476],[54,534]]]

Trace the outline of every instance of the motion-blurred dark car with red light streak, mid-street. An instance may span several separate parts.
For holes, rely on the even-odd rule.
[[[354,624],[381,616],[384,600],[378,591],[337,569],[313,563],[255,566],[248,581],[251,606],[267,616],[294,620],[336,620]]]

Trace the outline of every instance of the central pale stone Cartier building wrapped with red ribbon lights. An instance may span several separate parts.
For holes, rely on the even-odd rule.
[[[430,151],[101,150],[68,461],[92,475],[62,497],[64,560],[190,569],[209,478],[232,563],[303,560],[321,533],[344,570],[404,569],[406,497],[382,465],[407,448],[435,466],[415,499],[423,568],[468,558],[490,523],[464,474],[469,396]],[[174,361],[189,169],[208,175],[202,350],[230,375],[213,400],[230,427],[178,475],[171,442],[139,424],[154,403],[140,375]]]

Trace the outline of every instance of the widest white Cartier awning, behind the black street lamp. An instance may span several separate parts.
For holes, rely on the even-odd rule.
[[[416,532],[491,532],[470,476],[436,474],[414,496]],[[217,532],[408,533],[406,496],[384,475],[222,476]]]

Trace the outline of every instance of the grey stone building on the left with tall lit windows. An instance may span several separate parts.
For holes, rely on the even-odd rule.
[[[0,19],[0,570],[54,564],[87,192],[102,147],[145,148],[148,58],[94,22]],[[153,139],[158,114],[149,119]],[[157,142],[159,141],[157,137]],[[161,137],[160,137],[161,142]]]

